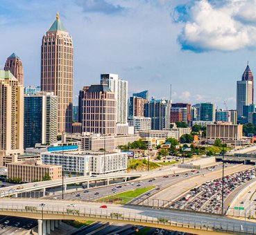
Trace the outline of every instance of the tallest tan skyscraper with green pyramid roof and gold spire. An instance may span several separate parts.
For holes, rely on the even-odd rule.
[[[41,89],[58,97],[58,133],[71,133],[73,106],[73,41],[59,14],[42,38]]]

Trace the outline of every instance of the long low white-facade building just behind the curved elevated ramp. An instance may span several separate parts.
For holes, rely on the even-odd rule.
[[[65,173],[79,176],[126,171],[127,153],[110,151],[71,151],[41,153],[44,164],[62,165]]]

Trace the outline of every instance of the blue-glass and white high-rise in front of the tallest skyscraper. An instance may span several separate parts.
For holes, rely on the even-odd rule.
[[[24,149],[57,141],[57,96],[44,91],[24,96]]]

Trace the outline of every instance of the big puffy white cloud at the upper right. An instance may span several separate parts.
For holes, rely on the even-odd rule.
[[[191,0],[176,7],[173,19],[185,23],[182,49],[232,51],[256,46],[255,12],[255,0]]]

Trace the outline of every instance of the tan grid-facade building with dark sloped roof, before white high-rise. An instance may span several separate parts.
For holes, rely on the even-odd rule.
[[[117,101],[106,85],[92,85],[83,97],[83,132],[115,134]]]

